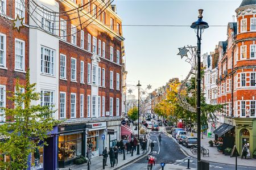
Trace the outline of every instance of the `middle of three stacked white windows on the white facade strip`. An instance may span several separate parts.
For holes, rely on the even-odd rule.
[[[41,46],[41,73],[55,75],[55,50]]]

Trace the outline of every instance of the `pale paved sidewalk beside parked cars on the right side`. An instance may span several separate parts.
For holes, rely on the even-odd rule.
[[[188,132],[188,135],[191,133]],[[171,135],[170,135],[171,136]],[[194,136],[196,137],[196,134],[194,133]],[[176,139],[175,139],[176,140]],[[209,162],[214,162],[214,163],[223,163],[223,164],[236,164],[236,158],[230,158],[230,156],[225,156],[222,154],[222,152],[217,151],[217,147],[210,147],[209,146],[209,141],[213,140],[213,138],[208,138],[206,135],[204,135],[204,138],[201,139],[201,146],[204,148],[207,148],[209,150],[209,157],[208,155],[203,156],[201,154],[201,159],[206,160]],[[190,148],[186,148],[185,146],[180,145],[180,147],[189,155],[194,158],[197,158],[197,155],[192,154],[190,151]],[[256,159],[241,159],[241,157],[237,158],[237,164],[242,165],[242,166],[247,166],[247,167],[256,167]]]

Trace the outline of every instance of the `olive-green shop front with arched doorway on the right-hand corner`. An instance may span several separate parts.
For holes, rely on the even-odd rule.
[[[236,146],[240,155],[243,145],[249,146],[250,155],[256,150],[256,118],[234,118]]]

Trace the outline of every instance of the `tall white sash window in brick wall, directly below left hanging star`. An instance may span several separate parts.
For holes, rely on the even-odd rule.
[[[25,71],[25,42],[15,39],[15,70]]]

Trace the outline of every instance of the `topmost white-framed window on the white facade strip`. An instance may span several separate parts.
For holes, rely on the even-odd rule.
[[[48,32],[55,33],[55,23],[54,23],[54,16],[51,12],[46,10],[42,11],[42,28]]]

